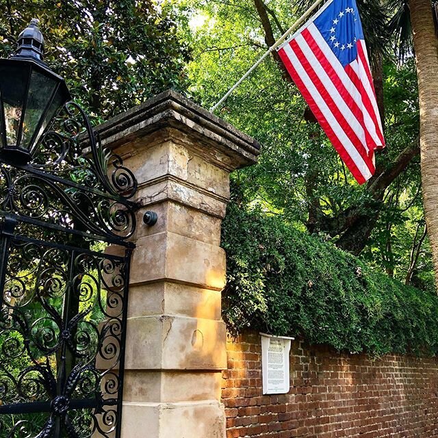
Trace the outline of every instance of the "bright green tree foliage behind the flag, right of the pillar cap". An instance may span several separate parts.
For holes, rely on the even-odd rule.
[[[190,29],[185,34],[185,40],[190,40],[193,46],[193,60],[188,65],[192,84],[189,90],[194,99],[208,108],[266,51],[263,28],[253,0],[178,3],[184,5],[184,13],[190,18]],[[297,3],[291,5],[285,0],[264,3],[270,8],[275,37],[281,35],[281,29],[273,16],[283,28],[299,16]],[[378,7],[374,0],[368,3]],[[391,168],[408,147],[417,144],[420,118],[417,78],[412,57],[400,63],[389,54],[394,41],[382,37],[385,32],[375,19],[381,22],[384,17],[374,14],[368,3],[361,2],[367,42],[375,55],[385,52],[378,47],[382,40],[388,46],[381,83],[387,148],[376,154],[378,170],[383,171]],[[363,258],[376,270],[403,282],[413,266],[411,283],[422,289],[434,289],[427,238],[416,263],[411,257],[417,224],[424,218],[420,158],[411,159],[381,195],[373,195],[370,184],[359,186],[352,179],[324,133],[315,123],[308,123],[304,113],[304,100],[272,57],[263,61],[218,109],[218,116],[261,143],[257,165],[233,175],[246,202],[281,214],[301,229],[322,232],[335,244],[344,233],[342,227],[357,229],[355,223],[343,222],[352,211],[363,214],[370,222],[376,220],[368,241],[358,234],[357,240],[367,242]]]

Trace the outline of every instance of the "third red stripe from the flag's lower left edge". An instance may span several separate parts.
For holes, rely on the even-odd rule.
[[[344,82],[339,78],[339,75],[336,73],[335,69],[331,65],[331,62],[327,59],[325,53],[321,50],[319,44],[315,41],[315,38],[313,38],[312,34],[310,33],[309,29],[305,29],[302,31],[302,36],[305,38],[307,44],[309,44],[309,47],[311,51],[313,52],[313,55],[315,55],[318,62],[320,62],[321,66],[324,68],[325,72],[333,82],[333,85],[337,88],[339,91],[339,94],[341,94],[342,99],[344,99],[344,102],[348,107],[350,107],[350,110],[357,118],[357,121],[361,124],[363,127],[363,130],[365,131],[365,142],[368,145],[368,149],[375,149],[377,144],[373,140],[370,132],[368,131],[365,120],[362,112],[362,108],[359,107],[355,99],[352,97],[350,92],[347,90],[346,86],[344,85]],[[340,64],[339,64],[340,65]],[[343,68],[343,67],[342,67]],[[357,90],[358,94],[360,94],[359,90]]]

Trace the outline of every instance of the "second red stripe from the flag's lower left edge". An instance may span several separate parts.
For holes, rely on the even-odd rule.
[[[324,100],[326,105],[330,108],[333,116],[335,116],[340,127],[346,133],[346,136],[350,139],[353,146],[355,146],[355,149],[359,152],[359,155],[361,155],[361,157],[363,158],[363,161],[370,169],[370,172],[373,173],[374,166],[372,166],[372,164],[370,163],[370,159],[368,159],[368,151],[363,146],[361,139],[357,136],[357,133],[355,133],[355,131],[353,131],[352,127],[348,123],[348,120],[346,120],[346,117],[344,116],[344,114],[342,114],[342,111],[339,110],[339,106],[333,100],[329,91],[324,86],[324,83],[322,83],[320,77],[318,76],[318,74],[315,72],[315,70],[313,69],[313,67],[309,63],[309,60],[307,60],[307,57],[302,52],[302,49],[298,45],[298,42],[296,42],[296,40],[292,40],[289,43],[289,45],[292,48],[292,50],[294,51],[300,64],[304,67],[307,75],[309,75],[309,78],[313,82],[313,85],[315,86],[315,88],[317,88],[318,92],[320,92],[322,99]]]

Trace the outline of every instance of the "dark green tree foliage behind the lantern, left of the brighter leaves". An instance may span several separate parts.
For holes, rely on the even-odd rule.
[[[183,90],[190,51],[172,8],[151,0],[0,0],[0,55],[40,19],[46,62],[105,120],[168,88]]]

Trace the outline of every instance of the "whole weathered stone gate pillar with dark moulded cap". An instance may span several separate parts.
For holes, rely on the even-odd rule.
[[[227,368],[220,226],[229,173],[259,145],[175,92],[101,125],[139,183],[131,261],[122,438],[224,438]],[[155,211],[153,227],[142,224]]]

